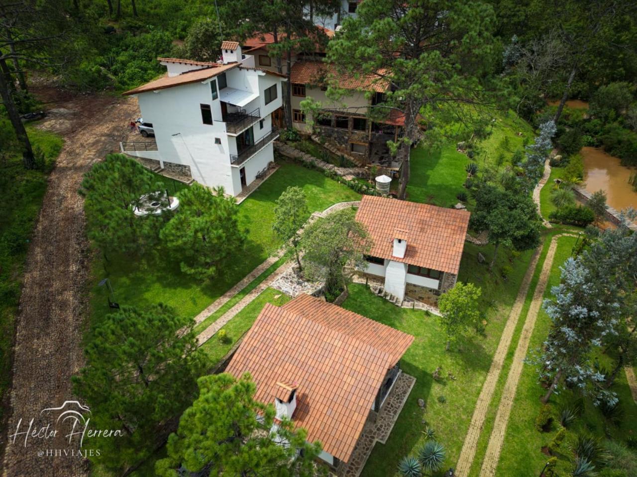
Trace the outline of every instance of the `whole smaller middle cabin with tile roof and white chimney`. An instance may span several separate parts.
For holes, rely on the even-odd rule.
[[[455,285],[469,212],[364,195],[356,212],[373,240],[361,275],[384,291],[435,302]]]

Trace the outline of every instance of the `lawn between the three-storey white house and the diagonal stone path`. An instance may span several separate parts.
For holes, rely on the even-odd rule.
[[[120,304],[147,307],[166,303],[185,316],[196,316],[280,247],[281,242],[271,226],[275,201],[287,186],[303,189],[312,212],[360,197],[320,172],[284,162],[273,176],[239,205],[240,225],[248,228],[248,240],[245,249],[237,251],[236,260],[225,269],[224,276],[211,282],[196,280],[180,272],[178,263],[164,251],[143,258],[109,256],[109,261],[105,261],[99,257],[92,266],[91,323],[95,324],[101,315],[108,312],[106,290],[97,286],[97,282],[105,277],[110,278],[115,301]],[[173,184],[167,184],[167,187],[172,190]]]

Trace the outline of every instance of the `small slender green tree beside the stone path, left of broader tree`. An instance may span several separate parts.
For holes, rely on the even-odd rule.
[[[300,187],[288,187],[276,200],[275,222],[272,225],[272,230],[280,239],[289,240],[299,270],[302,270],[299,256],[299,240],[301,239],[299,230],[309,215],[310,211],[305,194]]]

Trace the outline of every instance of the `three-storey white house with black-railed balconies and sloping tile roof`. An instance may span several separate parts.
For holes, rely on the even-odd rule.
[[[159,59],[166,76],[124,93],[138,98],[155,142],[124,142],[122,152],[236,196],[274,159],[271,114],[284,77],[255,68],[233,41],[222,43],[222,58]]]

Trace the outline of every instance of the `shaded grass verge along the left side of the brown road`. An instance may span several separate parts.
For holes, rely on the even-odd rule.
[[[45,170],[25,170],[22,156],[0,162],[0,400],[10,383],[15,315],[29,240],[47,190],[47,176],[62,148],[62,138],[27,126],[32,146],[45,153]],[[0,406],[0,420],[3,408]]]

